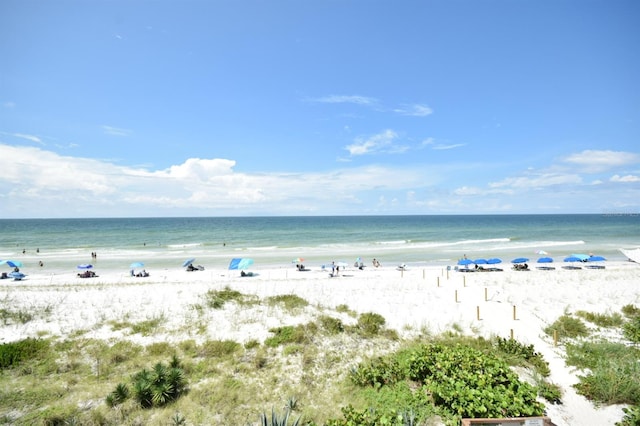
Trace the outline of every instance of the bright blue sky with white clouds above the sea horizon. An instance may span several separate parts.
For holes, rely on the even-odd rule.
[[[640,212],[637,1],[0,3],[0,217]]]

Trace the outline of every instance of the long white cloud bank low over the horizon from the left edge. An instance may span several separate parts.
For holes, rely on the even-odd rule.
[[[428,180],[421,170],[379,166],[247,174],[234,170],[234,160],[201,158],[149,170],[2,144],[0,156],[12,159],[0,175],[4,217],[295,214],[347,209],[364,203],[359,194]]]

